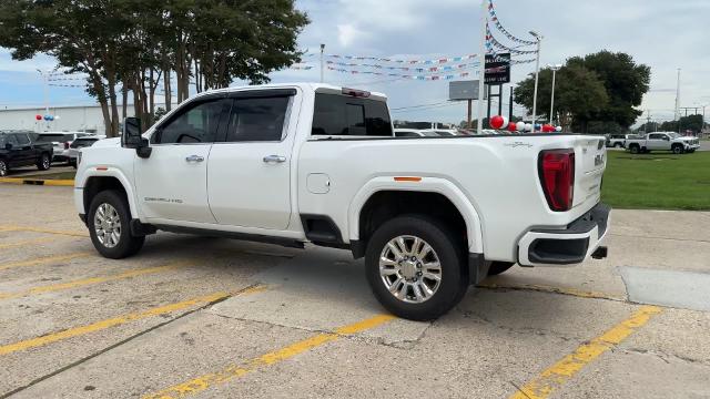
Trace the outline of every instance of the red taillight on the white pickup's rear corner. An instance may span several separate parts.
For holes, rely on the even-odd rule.
[[[575,150],[540,152],[538,164],[540,184],[550,209],[569,211],[575,195]]]

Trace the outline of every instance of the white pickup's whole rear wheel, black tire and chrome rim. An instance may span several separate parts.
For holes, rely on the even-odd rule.
[[[379,303],[412,320],[437,318],[468,288],[464,249],[456,236],[426,216],[399,216],[383,224],[367,245],[365,267]]]

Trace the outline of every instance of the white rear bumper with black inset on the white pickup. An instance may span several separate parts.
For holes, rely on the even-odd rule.
[[[577,265],[588,258],[609,231],[611,207],[597,204],[561,229],[532,229],[518,242],[521,266]]]

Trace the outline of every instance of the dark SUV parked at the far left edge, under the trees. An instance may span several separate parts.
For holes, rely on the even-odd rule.
[[[12,167],[36,165],[40,171],[50,168],[52,145],[32,140],[32,132],[0,131],[0,177]]]

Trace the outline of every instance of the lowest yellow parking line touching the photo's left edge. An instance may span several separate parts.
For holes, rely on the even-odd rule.
[[[176,303],[176,304],[159,306],[159,307],[155,307],[155,308],[152,308],[152,309],[138,311],[138,313],[132,313],[132,314],[128,314],[128,315],[110,318],[110,319],[106,319],[106,320],[92,323],[92,324],[87,325],[87,326],[69,328],[69,329],[65,329],[65,330],[62,330],[62,331],[48,334],[45,336],[31,338],[31,339],[27,339],[27,340],[14,342],[14,344],[10,344],[10,345],[0,346],[0,356],[1,355],[12,354],[12,352],[16,352],[16,351],[19,351],[19,350],[27,350],[27,349],[30,349],[30,348],[41,347],[41,346],[44,346],[44,345],[48,345],[48,344],[52,344],[52,342],[57,342],[57,341],[60,341],[60,340],[69,339],[69,338],[72,338],[72,337],[78,337],[78,336],[82,336],[82,335],[87,335],[87,334],[104,330],[106,328],[124,325],[126,323],[144,319],[144,318],[149,318],[149,317],[153,317],[153,316],[160,316],[160,315],[169,314],[169,313],[172,313],[172,311],[183,310],[183,309],[190,308],[190,307],[195,306],[195,305],[207,305],[207,304],[211,304],[211,303],[214,303],[214,301],[226,299],[229,297],[230,297],[230,294],[216,293],[216,294],[201,296],[201,297],[193,298],[193,299],[183,300],[183,301],[180,301],[180,303]]]

